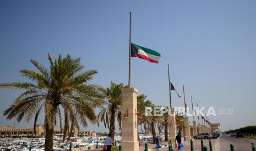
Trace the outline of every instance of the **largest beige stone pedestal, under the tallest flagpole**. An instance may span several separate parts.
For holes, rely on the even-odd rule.
[[[122,150],[124,151],[139,151],[138,142],[138,127],[137,127],[137,93],[135,88],[123,88],[122,89]],[[125,119],[124,115],[128,111],[128,118]]]

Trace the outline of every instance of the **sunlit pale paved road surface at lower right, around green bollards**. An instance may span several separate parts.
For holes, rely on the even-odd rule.
[[[209,140],[203,140],[204,146],[209,148]],[[230,137],[229,135],[221,135],[217,139],[212,139],[211,140],[212,145],[213,145],[213,150],[214,151],[230,151],[230,144],[233,144],[235,151],[247,151],[247,150],[252,150],[252,143],[256,144],[256,140],[252,140],[249,138],[242,138],[242,137]],[[201,150],[201,140],[194,140],[193,141],[193,146],[195,151],[200,151]],[[168,147],[161,148],[159,150],[168,150]],[[175,148],[177,150],[177,148]],[[190,143],[188,142],[187,144],[184,145],[182,148],[183,151],[190,151]]]

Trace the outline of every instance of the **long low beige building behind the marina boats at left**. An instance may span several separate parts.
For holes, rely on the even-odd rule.
[[[55,129],[54,130],[54,135],[58,137],[63,137],[63,131],[64,130],[59,130]],[[36,130],[34,133],[34,127],[13,127],[13,126],[0,126],[0,136],[1,137],[43,137],[45,135],[45,127],[42,124],[36,125]],[[79,131],[78,135],[78,130],[74,130],[72,133],[72,136],[96,136],[96,131]]]

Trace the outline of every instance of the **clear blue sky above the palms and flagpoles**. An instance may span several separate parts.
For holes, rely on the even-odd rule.
[[[81,57],[104,87],[128,83],[129,11],[132,42],[157,50],[159,64],[132,58],[132,86],[168,106],[167,63],[182,94],[199,106],[233,108],[210,117],[221,129],[256,124],[256,1],[0,1],[0,83],[26,81],[20,69],[48,66],[47,53]],[[0,114],[20,94],[0,90]],[[173,106],[183,98],[172,93]],[[13,125],[0,116],[0,125]],[[39,123],[43,123],[43,116]],[[17,126],[32,126],[21,122]],[[89,126],[86,130],[106,131]]]

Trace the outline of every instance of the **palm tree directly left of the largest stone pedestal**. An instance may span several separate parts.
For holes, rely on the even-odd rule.
[[[102,89],[105,94],[105,108],[103,108],[98,118],[104,123],[104,126],[110,130],[111,139],[115,138],[115,118],[117,117],[119,130],[121,130],[121,106],[123,84],[111,82],[110,88]],[[98,123],[99,126],[99,123]]]

